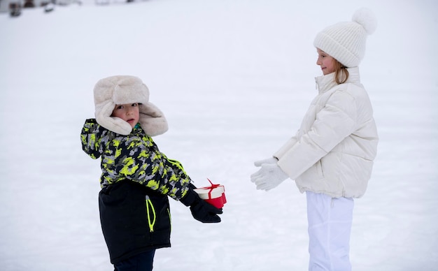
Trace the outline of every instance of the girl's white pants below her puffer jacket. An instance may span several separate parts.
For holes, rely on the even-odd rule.
[[[306,191],[309,221],[309,271],[350,271],[353,198]]]

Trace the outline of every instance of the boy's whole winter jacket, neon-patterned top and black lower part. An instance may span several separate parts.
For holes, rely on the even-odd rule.
[[[87,119],[80,134],[92,159],[101,157],[99,210],[111,263],[143,251],[170,247],[167,196],[179,200],[190,177],[136,126],[127,136]]]

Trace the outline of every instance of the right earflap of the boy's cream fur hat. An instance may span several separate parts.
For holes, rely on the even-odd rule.
[[[157,108],[153,103],[141,103],[139,105],[140,119],[139,123],[141,129],[145,131],[148,136],[158,136],[165,133],[169,126],[167,119],[163,112]]]

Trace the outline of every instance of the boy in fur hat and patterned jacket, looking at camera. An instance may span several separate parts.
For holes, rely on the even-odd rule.
[[[139,78],[119,75],[94,87],[96,119],[87,119],[83,151],[101,157],[99,212],[115,270],[152,270],[155,249],[170,247],[167,196],[190,206],[203,223],[218,223],[222,210],[199,198],[178,161],[151,138],[167,131],[162,112]]]

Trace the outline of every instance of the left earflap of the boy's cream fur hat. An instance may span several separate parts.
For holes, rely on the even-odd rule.
[[[120,119],[120,117],[110,117],[114,107],[115,103],[113,103],[113,101],[107,101],[106,103],[101,103],[101,105],[96,106],[96,121],[109,131],[127,136],[132,131],[131,124]]]

